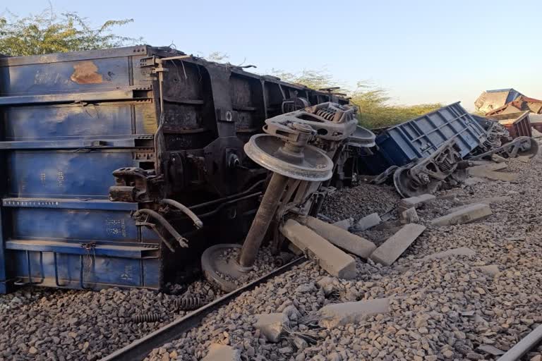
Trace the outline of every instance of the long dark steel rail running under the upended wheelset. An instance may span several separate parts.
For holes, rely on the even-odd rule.
[[[221,298],[217,298],[207,305],[200,307],[198,310],[187,314],[185,317],[174,320],[174,322],[171,322],[161,329],[152,332],[152,334],[148,334],[143,338],[133,341],[133,343],[130,345],[127,345],[120,350],[116,350],[114,353],[102,358],[100,361],[141,361],[145,359],[145,357],[147,357],[147,355],[149,355],[153,349],[164,345],[165,343],[171,342],[176,338],[179,338],[184,332],[188,332],[194,327],[199,326],[200,322],[205,316],[207,316],[207,314],[210,314],[219,307],[226,305],[228,302],[241,295],[241,293],[248,290],[253,290],[256,286],[259,286],[273,277],[289,271],[291,267],[301,264],[301,262],[304,260],[306,260],[305,257],[296,258],[293,261],[284,264],[284,266],[271,271],[265,276],[262,276],[251,283],[247,283],[246,285],[237,288],[227,295],[223,295]]]

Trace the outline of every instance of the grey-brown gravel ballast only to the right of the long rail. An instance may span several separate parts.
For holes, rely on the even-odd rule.
[[[498,356],[478,347],[509,350],[542,324],[541,159],[538,155],[529,164],[512,159],[509,168],[519,173],[518,183],[494,181],[438,192],[437,199],[417,210],[421,224],[428,228],[392,266],[356,258],[356,278],[342,280],[306,262],[213,312],[200,327],[170,343],[167,351],[176,350],[179,360],[198,360],[210,343],[220,341],[241,350],[243,360],[496,360]],[[383,201],[371,195],[377,189],[381,188],[360,185],[335,192],[334,197],[339,194],[347,200],[368,195],[368,207],[362,209],[360,199],[359,208],[352,207],[349,213],[335,198],[325,205],[326,215],[359,219],[398,205],[399,197],[386,195],[387,187],[381,195],[387,201],[378,204]],[[493,214],[486,219],[462,225],[429,224],[453,207],[497,196],[509,198],[493,203]],[[380,232],[371,228],[362,234],[371,239]],[[471,252],[424,259],[458,248]],[[500,272],[493,276],[480,268],[491,265],[498,265]],[[303,292],[296,292],[300,286]],[[390,312],[333,329],[318,325],[318,311],[326,305],[379,298],[390,300]],[[289,306],[301,316],[290,322],[284,338],[269,343],[253,327],[255,314],[282,312]],[[222,330],[228,337],[218,334]],[[299,339],[294,343],[295,338],[307,345]],[[539,353],[534,350],[528,357]],[[150,355],[148,360],[160,359]]]

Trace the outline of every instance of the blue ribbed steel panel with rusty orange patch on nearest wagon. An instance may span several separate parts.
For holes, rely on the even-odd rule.
[[[112,171],[152,166],[157,129],[147,47],[0,60],[0,284],[159,288],[160,247]],[[0,286],[0,292],[6,290]]]

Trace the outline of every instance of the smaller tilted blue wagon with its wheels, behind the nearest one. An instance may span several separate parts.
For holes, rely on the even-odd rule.
[[[497,122],[481,120],[457,102],[378,133],[371,152],[357,158],[356,171],[374,183],[392,178],[403,197],[431,193],[446,179],[461,180],[456,170],[469,165],[464,159],[532,157],[538,152],[531,138],[510,142],[504,133]],[[502,140],[508,143],[502,145]]]

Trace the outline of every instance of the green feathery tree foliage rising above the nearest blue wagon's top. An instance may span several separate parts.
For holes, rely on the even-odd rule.
[[[0,54],[26,56],[135,44],[142,39],[121,37],[113,32],[114,27],[132,21],[107,20],[94,28],[78,13],[58,14],[52,8],[24,18],[6,12],[0,15]]]

